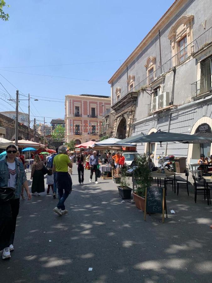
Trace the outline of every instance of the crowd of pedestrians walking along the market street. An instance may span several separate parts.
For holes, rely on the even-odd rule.
[[[46,157],[38,154],[33,156],[30,193],[24,169],[24,156],[20,155],[14,145],[8,146],[6,153],[5,159],[0,161],[0,250],[2,250],[3,259],[10,258],[10,252],[14,250],[19,199],[20,196],[24,199],[24,190],[28,200],[31,199],[31,195],[40,196],[42,192],[45,192],[44,179],[46,179],[46,193],[50,194],[51,190],[53,198],[56,198],[58,193],[58,203],[53,211],[63,215],[68,213],[65,201],[72,191],[73,161],[77,164],[79,185],[84,185],[84,165],[85,169],[90,169],[90,183],[95,175],[95,184],[98,184],[99,160],[102,163],[111,164],[114,160],[116,168],[124,165],[124,157],[118,152],[116,154],[102,153],[99,156],[96,151],[87,156],[79,153],[75,160],[73,153],[68,154],[66,147],[60,146],[56,148],[56,153],[48,154]],[[3,199],[5,195],[8,197],[7,201]]]

